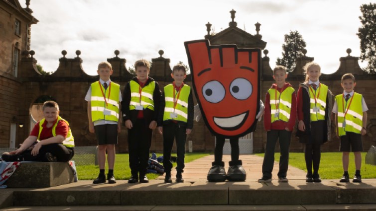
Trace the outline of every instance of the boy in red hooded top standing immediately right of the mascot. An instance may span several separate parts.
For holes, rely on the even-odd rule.
[[[273,70],[273,83],[266,92],[264,128],[266,131],[265,155],[262,163],[262,178],[258,182],[271,182],[274,166],[274,148],[277,140],[281,156],[279,159],[278,181],[288,182],[288,155],[290,150],[291,132],[296,119],[295,89],[286,83],[287,72],[283,66]]]

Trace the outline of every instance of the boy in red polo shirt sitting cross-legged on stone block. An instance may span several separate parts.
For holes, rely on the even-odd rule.
[[[72,159],[74,139],[69,123],[59,116],[58,104],[46,101],[42,111],[44,119],[35,124],[18,149],[4,152],[2,160],[66,162]]]

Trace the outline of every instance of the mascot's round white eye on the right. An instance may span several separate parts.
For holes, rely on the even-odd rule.
[[[252,84],[246,78],[236,78],[230,84],[230,93],[238,100],[245,100],[252,94]]]

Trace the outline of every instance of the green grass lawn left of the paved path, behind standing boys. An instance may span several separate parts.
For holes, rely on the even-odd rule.
[[[162,154],[157,153],[157,157]],[[186,153],[185,154],[185,163],[189,163],[192,160],[198,159],[209,155],[209,153]],[[75,155],[76,156],[76,155]],[[172,154],[176,156],[176,154]],[[76,159],[78,159],[76,157]],[[176,166],[176,163],[172,163],[173,168]],[[97,165],[77,165],[77,174],[79,180],[94,180],[97,178],[99,173],[99,166]],[[106,161],[106,174],[108,172],[108,166]],[[130,178],[130,169],[129,169],[129,156],[128,154],[116,154],[115,160],[115,169],[114,169],[115,178],[118,180],[127,180]],[[159,174],[148,173],[147,178],[155,179]]]

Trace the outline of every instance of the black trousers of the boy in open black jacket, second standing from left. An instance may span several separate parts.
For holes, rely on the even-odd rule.
[[[128,151],[130,173],[144,176],[147,171],[152,130],[145,119],[136,119],[132,122],[132,129],[128,129]]]

